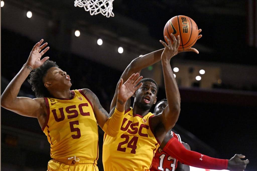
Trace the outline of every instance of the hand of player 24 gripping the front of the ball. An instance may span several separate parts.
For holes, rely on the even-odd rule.
[[[177,36],[178,40],[177,40],[176,37],[172,33],[170,35],[172,36],[173,44],[171,43],[171,40],[167,36],[165,36],[165,38],[167,39],[167,41],[169,43],[168,45],[165,42],[163,42],[162,40],[160,40],[161,44],[165,47],[165,49],[161,55],[161,60],[170,60],[173,56],[178,54],[180,37],[178,35]]]

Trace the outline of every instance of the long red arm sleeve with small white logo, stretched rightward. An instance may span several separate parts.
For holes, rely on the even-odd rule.
[[[171,157],[177,158],[182,164],[204,169],[227,169],[228,160],[212,158],[195,151],[187,150],[174,137],[167,142],[162,150],[169,154]]]

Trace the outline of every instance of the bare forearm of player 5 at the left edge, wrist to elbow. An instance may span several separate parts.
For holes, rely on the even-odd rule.
[[[25,81],[31,71],[32,69],[29,66],[26,64],[23,65],[19,73],[17,73],[17,75],[12,79],[12,81],[4,90],[1,97],[2,107],[8,108],[10,105],[12,105],[12,102],[17,98],[22,83]]]

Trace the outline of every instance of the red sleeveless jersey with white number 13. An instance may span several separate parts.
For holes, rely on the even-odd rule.
[[[179,142],[181,142],[179,134],[175,134],[173,131],[171,131],[171,135],[177,138]],[[178,160],[176,158],[169,156],[167,153],[162,151],[162,149],[158,148],[157,152],[154,155],[150,171],[175,171],[177,169],[177,166]]]

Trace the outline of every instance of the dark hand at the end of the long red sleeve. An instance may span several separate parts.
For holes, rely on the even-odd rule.
[[[249,163],[249,160],[241,160],[241,158],[245,158],[245,156],[242,154],[235,154],[234,157],[228,160],[227,169],[230,171],[243,171]]]

